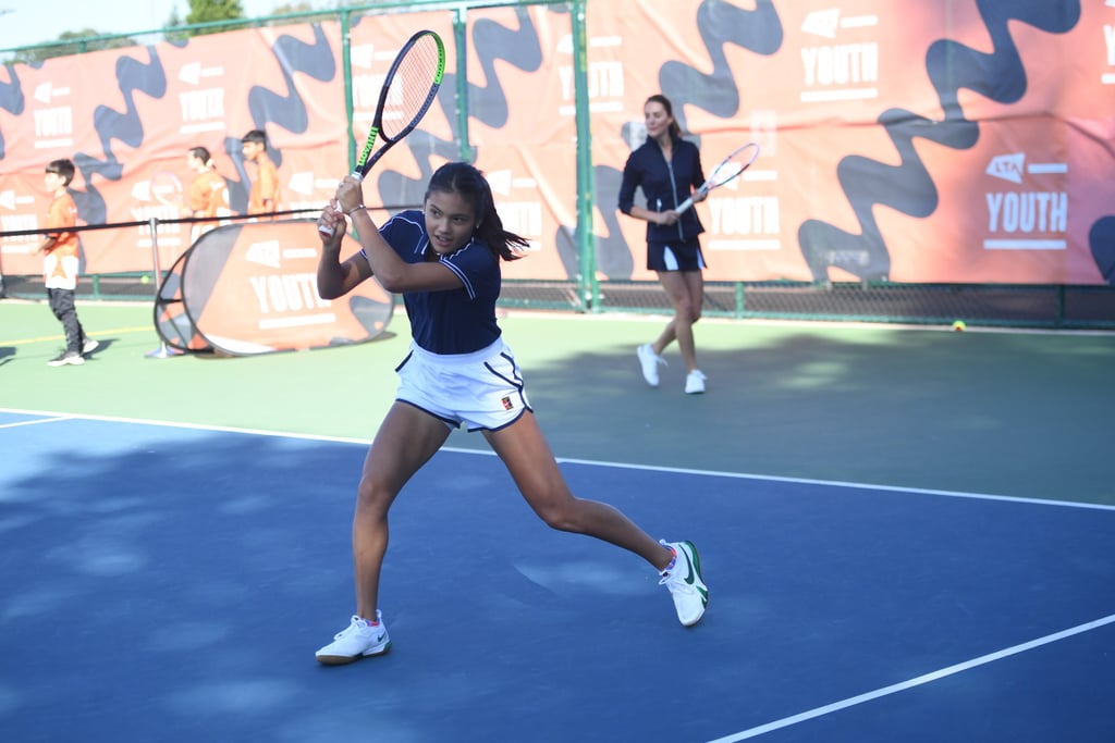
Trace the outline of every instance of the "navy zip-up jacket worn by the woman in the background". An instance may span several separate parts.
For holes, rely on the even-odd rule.
[[[620,212],[631,214],[636,188],[642,187],[647,197],[647,209],[668,212],[689,198],[689,195],[705,183],[700,166],[700,150],[697,145],[673,137],[673,157],[667,163],[658,141],[648,137],[647,141],[628,157],[623,166],[623,183],[620,184]],[[647,242],[671,243],[689,239],[705,232],[696,209],[687,209],[673,225],[647,223]]]

